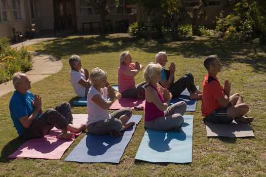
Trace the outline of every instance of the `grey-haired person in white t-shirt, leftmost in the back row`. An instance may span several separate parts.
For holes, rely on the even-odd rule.
[[[78,97],[87,97],[91,87],[89,71],[81,68],[81,58],[78,55],[72,55],[69,60],[71,67],[70,81]]]

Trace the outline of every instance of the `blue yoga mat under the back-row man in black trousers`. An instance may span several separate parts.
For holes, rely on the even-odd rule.
[[[200,86],[196,86],[197,89],[200,89]],[[187,112],[191,112],[191,111],[196,111],[196,106],[197,106],[197,100],[189,100],[189,92],[187,89],[185,89],[181,95],[179,96],[179,98],[173,98],[172,100],[170,100],[170,104],[175,104],[176,102],[180,102],[180,101],[184,101],[186,103],[186,111]]]

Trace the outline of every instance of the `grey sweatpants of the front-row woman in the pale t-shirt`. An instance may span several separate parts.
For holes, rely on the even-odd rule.
[[[122,128],[122,122],[119,120],[122,115],[131,117],[132,110],[130,108],[117,110],[110,114],[111,118],[89,124],[88,132],[95,135],[107,135],[112,131],[119,131]]]

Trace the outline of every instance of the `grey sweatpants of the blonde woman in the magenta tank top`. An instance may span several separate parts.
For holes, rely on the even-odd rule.
[[[184,101],[177,102],[165,110],[165,116],[158,117],[153,121],[144,121],[144,125],[146,128],[161,131],[180,130],[184,122],[182,115],[185,110],[186,103]]]

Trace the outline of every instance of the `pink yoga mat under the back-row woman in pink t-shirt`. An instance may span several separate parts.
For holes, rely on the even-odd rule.
[[[132,110],[134,110],[134,106],[144,108],[145,99],[121,98],[115,101],[115,103],[113,103],[109,109],[122,109],[122,108],[130,107]]]

